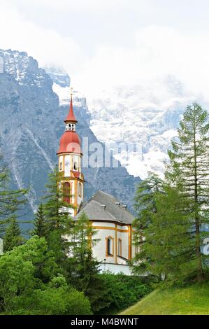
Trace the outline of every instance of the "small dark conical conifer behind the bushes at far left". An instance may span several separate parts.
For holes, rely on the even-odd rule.
[[[17,223],[16,216],[12,216],[8,220],[8,228],[3,237],[3,251],[10,251],[15,246],[20,246],[23,243],[23,239],[20,232],[20,226]]]

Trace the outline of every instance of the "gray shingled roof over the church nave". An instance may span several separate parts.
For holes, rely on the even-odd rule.
[[[134,216],[121,204],[120,206],[116,204],[117,202],[119,201],[113,195],[99,190],[89,202],[81,204],[74,219],[76,221],[80,214],[85,212],[92,221],[114,221],[121,224],[131,224],[134,221]],[[105,205],[106,208],[101,207],[102,205]]]

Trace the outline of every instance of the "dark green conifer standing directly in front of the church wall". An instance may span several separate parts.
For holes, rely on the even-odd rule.
[[[106,287],[99,277],[99,262],[92,254],[92,246],[99,241],[95,237],[96,230],[85,213],[74,222],[71,244],[69,247],[69,283],[83,291],[89,298],[93,311],[103,307],[100,300]]]

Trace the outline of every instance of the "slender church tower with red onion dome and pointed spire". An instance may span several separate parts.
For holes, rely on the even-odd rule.
[[[73,113],[73,99],[71,92],[71,103],[69,114],[64,120],[65,132],[60,139],[59,151],[59,172],[63,173],[63,188],[67,191],[65,201],[73,206],[70,209],[71,215],[78,213],[78,208],[83,201],[84,176],[81,172],[82,151],[80,139],[76,133],[76,120]]]

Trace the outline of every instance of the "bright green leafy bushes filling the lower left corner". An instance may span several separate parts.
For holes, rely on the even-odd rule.
[[[89,300],[67,285],[44,238],[0,258],[1,314],[91,314]]]

